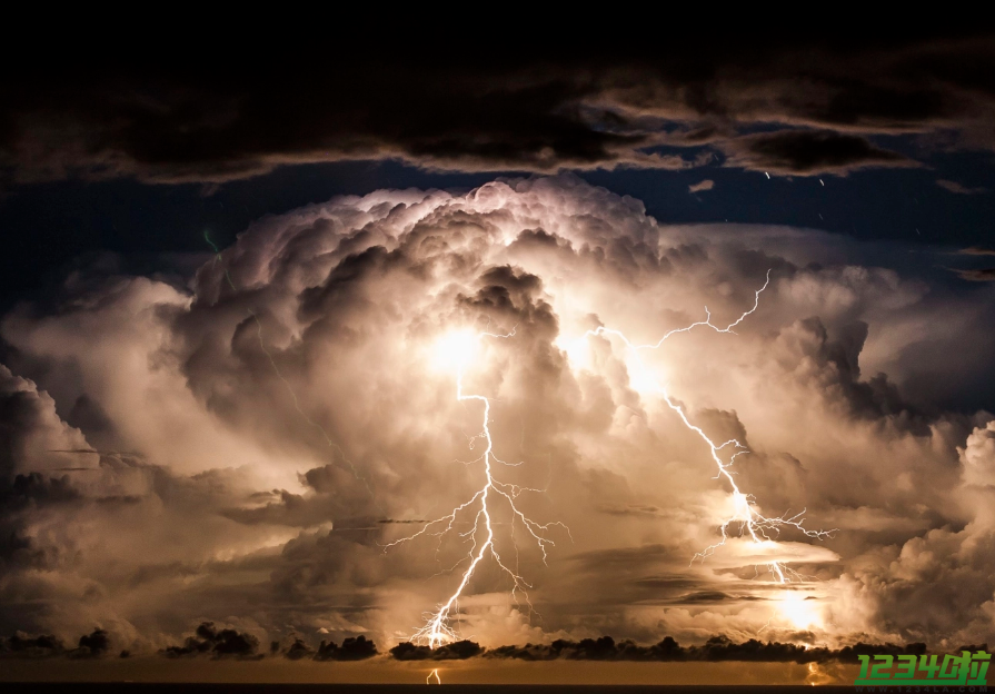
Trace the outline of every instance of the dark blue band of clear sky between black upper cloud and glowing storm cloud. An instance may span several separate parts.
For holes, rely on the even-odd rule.
[[[985,188],[995,180],[995,155],[936,153],[928,168],[875,169],[846,177],[767,177],[718,162],[689,171],[583,171],[581,178],[643,200],[664,222],[730,221],[824,229],[862,240],[897,240],[957,250],[988,244],[995,196],[951,192],[937,180]],[[524,172],[508,171],[504,176]],[[161,252],[208,251],[203,231],[228,245],[249,222],[339,195],[380,188],[469,189],[494,174],[428,172],[398,161],[281,167],[205,194],[196,184],[135,180],[21,185],[0,200],[3,296],[10,300],[64,271],[74,258],[113,251],[140,261]],[[819,182],[819,178],[824,185]],[[714,188],[688,192],[702,180]],[[952,262],[971,267],[963,258]]]

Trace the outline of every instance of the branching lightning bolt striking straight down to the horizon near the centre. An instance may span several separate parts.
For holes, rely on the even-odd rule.
[[[485,337],[510,339],[514,336],[515,330],[513,329],[506,335],[497,335],[494,333],[478,333],[475,336],[475,339],[480,340]],[[494,454],[494,438],[491,437],[490,433],[490,398],[482,395],[464,393],[462,376],[467,367],[469,357],[468,353],[469,350],[464,350],[459,356],[456,377],[456,399],[460,403],[476,401],[482,405],[480,433],[470,439],[470,447],[472,448],[474,442],[477,438],[482,438],[486,443],[484,454],[476,460],[471,460],[471,464],[484,464],[484,486],[469,500],[454,508],[452,513],[425,524],[425,526],[422,526],[422,528],[414,535],[384,545],[384,551],[387,552],[390,547],[410,542],[422,535],[432,535],[435,537],[441,538],[444,535],[454,529],[454,525],[456,524],[457,516],[459,514],[465,510],[476,509],[476,513],[474,515],[474,527],[466,533],[460,533],[460,537],[469,537],[472,542],[472,545],[470,547],[470,551],[467,553],[467,557],[461,559],[459,563],[462,563],[467,558],[469,558],[470,563],[464,571],[459,585],[457,586],[456,591],[449,596],[449,599],[439,605],[436,612],[430,613],[426,618],[426,624],[417,632],[415,632],[412,636],[412,641],[425,642],[430,648],[435,648],[457,638],[456,632],[452,629],[450,624],[452,619],[456,618],[455,615],[459,612],[459,597],[462,595],[464,591],[469,584],[470,578],[472,578],[474,572],[477,571],[477,566],[487,556],[490,556],[498,565],[498,567],[511,578],[511,596],[516,598],[516,602],[518,594],[521,593],[529,607],[531,608],[531,602],[529,602],[528,598],[528,588],[530,588],[531,585],[529,585],[520,575],[518,575],[517,572],[511,571],[511,568],[509,568],[507,564],[501,561],[500,554],[498,553],[497,547],[495,547],[494,518],[491,515],[492,504],[495,502],[504,500],[510,508],[513,541],[515,522],[517,519],[518,523],[520,523],[525,527],[526,532],[538,545],[539,551],[543,553],[544,564],[546,563],[547,557],[547,546],[556,546],[556,543],[546,537],[546,533],[554,526],[564,528],[568,535],[570,532],[569,528],[563,523],[556,522],[545,525],[537,523],[526,516],[516,505],[515,499],[517,499],[523,492],[543,492],[543,489],[534,489],[531,487],[507,484],[495,478],[492,465],[496,463],[508,465],[508,463],[505,463]],[[484,532],[484,542],[478,546],[477,536],[480,534],[481,527]],[[459,564],[457,564],[457,566]]]

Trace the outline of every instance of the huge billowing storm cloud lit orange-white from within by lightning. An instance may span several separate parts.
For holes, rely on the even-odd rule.
[[[97,627],[115,648],[236,657],[277,642],[316,660],[409,641],[461,575],[472,516],[385,545],[480,488],[482,413],[456,398],[451,338],[484,330],[514,333],[479,340],[461,384],[490,398],[495,474],[569,534],[549,526],[544,562],[496,506],[528,596],[482,562],[460,634],[995,638],[992,415],[929,407],[922,380],[991,378],[991,307],[860,251],[667,227],[631,198],[538,178],[268,217],[188,285],[80,271],[61,303],[0,325],[0,633]],[[646,367],[703,432],[747,447],[733,469],[757,508],[837,532],[756,544],[734,524],[719,544],[736,497],[707,446],[618,338],[588,331],[656,344],[706,306],[727,325],[768,272],[734,331],[676,333]],[[956,364],[932,356],[964,343],[976,354]],[[798,583],[758,575],[772,561]]]

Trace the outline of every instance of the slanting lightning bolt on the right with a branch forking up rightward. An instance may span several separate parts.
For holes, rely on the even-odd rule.
[[[729,325],[727,325],[724,328],[720,328],[720,327],[716,326],[714,323],[712,323],[712,313],[708,310],[708,307],[706,306],[705,307],[705,320],[699,320],[699,321],[694,323],[694,324],[691,324],[687,327],[684,327],[684,328],[670,330],[669,333],[664,335],[659,340],[657,340],[656,343],[650,344],[650,345],[634,345],[629,340],[629,338],[627,338],[619,330],[614,330],[614,329],[606,328],[606,327],[598,327],[594,330],[588,330],[587,333],[585,333],[584,337],[581,338],[581,339],[586,339],[586,338],[593,337],[593,336],[597,337],[597,336],[603,336],[603,335],[611,335],[611,336],[615,336],[618,339],[620,339],[625,344],[626,349],[628,349],[629,353],[633,355],[638,369],[641,371],[641,375],[645,378],[644,383],[647,383],[650,387],[649,389],[653,390],[654,393],[656,393],[657,395],[659,395],[660,398],[664,400],[664,403],[666,403],[667,406],[674,413],[677,414],[680,422],[684,423],[684,426],[686,426],[688,429],[690,429],[691,432],[697,434],[698,437],[708,446],[708,452],[712,456],[713,462],[715,462],[715,465],[718,469],[718,472],[716,474],[716,478],[717,479],[724,478],[732,487],[734,512],[733,512],[733,515],[729,518],[727,518],[726,520],[724,520],[720,526],[722,539],[719,542],[706,547],[702,552],[698,552],[697,554],[695,554],[695,556],[691,558],[691,563],[694,563],[696,559],[702,559],[702,561],[706,559],[707,557],[712,556],[716,549],[718,549],[719,547],[725,545],[726,539],[728,539],[728,537],[729,537],[729,528],[730,528],[730,526],[734,526],[734,525],[738,525],[740,536],[748,535],[749,538],[755,544],[758,544],[758,545],[764,544],[766,542],[773,542],[773,539],[780,534],[782,529],[785,529],[788,527],[800,531],[807,537],[812,537],[814,539],[825,539],[826,537],[833,537],[833,534],[836,532],[835,529],[833,529],[833,531],[810,531],[810,529],[806,528],[804,526],[804,516],[805,516],[806,509],[804,509],[804,508],[802,509],[800,513],[797,513],[795,515],[788,515],[789,512],[785,513],[782,516],[777,516],[777,517],[767,517],[767,516],[763,515],[757,509],[754,497],[752,495],[744,494],[739,489],[739,486],[736,484],[736,480],[733,478],[734,473],[730,470],[730,468],[733,466],[733,462],[738,456],[740,456],[745,453],[748,453],[746,446],[744,446],[742,443],[739,443],[735,438],[724,442],[722,444],[716,444],[714,440],[712,440],[712,438],[709,438],[708,435],[705,434],[705,432],[702,429],[702,427],[691,423],[691,420],[687,416],[687,413],[684,412],[684,408],[670,398],[670,395],[667,391],[667,388],[659,385],[659,383],[657,383],[657,380],[653,377],[653,373],[650,371],[649,368],[647,368],[646,364],[643,361],[643,359],[639,356],[639,353],[641,350],[658,349],[671,336],[680,334],[680,333],[688,333],[688,331],[693,330],[694,328],[707,327],[707,328],[712,328],[716,333],[727,333],[727,334],[732,333],[735,335],[735,331],[733,330],[733,328],[735,328],[740,323],[746,320],[746,318],[748,316],[750,316],[754,311],[757,310],[757,308],[760,305],[760,294],[763,294],[763,291],[765,289],[767,289],[767,287],[769,285],[770,285],[770,270],[767,270],[767,279],[764,282],[764,286],[760,287],[759,289],[757,289],[755,298],[754,298],[753,308],[750,308],[747,311],[744,311],[743,315],[739,316],[739,318],[737,318],[736,320],[734,320],[733,323],[730,323]],[[720,453],[726,449],[734,450],[735,453],[733,453],[730,456],[728,456],[728,460],[723,460],[723,456],[720,455]],[[773,535],[773,537],[772,537],[772,535]],[[788,583],[793,578],[799,577],[798,574],[794,569],[792,569],[790,567],[786,566],[784,563],[778,562],[778,561],[772,561],[769,564],[767,564],[767,568],[768,568],[769,573],[772,574],[772,576],[778,583]]]

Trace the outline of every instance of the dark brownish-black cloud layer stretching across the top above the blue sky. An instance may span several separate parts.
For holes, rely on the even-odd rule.
[[[454,62],[429,46],[391,58],[298,44],[265,61],[240,52],[238,69],[200,54],[169,68],[26,69],[0,92],[0,166],[20,181],[218,182],[342,159],[454,170],[687,168],[710,159],[702,147],[718,146],[735,166],[810,175],[909,165],[860,133],[954,132],[962,146],[995,143],[985,125],[995,52],[984,34],[733,33],[710,41],[707,56],[677,39],[605,56],[588,46],[548,47],[528,60],[467,52],[472,59]],[[759,125],[812,131],[736,139]],[[689,149],[661,155],[661,143]]]

